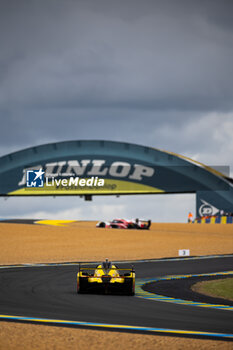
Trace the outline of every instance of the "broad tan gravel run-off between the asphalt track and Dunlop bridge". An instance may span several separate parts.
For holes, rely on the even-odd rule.
[[[233,225],[152,224],[148,230],[95,227],[95,222],[65,226],[0,223],[0,264],[153,259],[233,252]]]

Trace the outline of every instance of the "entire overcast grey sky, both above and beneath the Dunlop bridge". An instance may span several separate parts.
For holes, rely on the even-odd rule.
[[[0,156],[107,139],[232,169],[232,0],[0,0],[0,45]],[[184,222],[195,207],[138,198],[2,198],[0,218]]]

